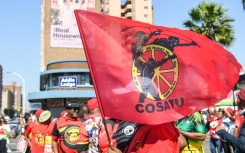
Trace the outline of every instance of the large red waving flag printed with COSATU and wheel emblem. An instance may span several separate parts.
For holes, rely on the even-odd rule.
[[[175,121],[226,98],[241,65],[187,30],[75,11],[105,116],[144,124]]]

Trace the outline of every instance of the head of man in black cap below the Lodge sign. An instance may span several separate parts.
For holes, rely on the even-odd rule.
[[[71,100],[66,103],[67,115],[71,118],[77,118],[80,110],[80,104],[76,100]]]

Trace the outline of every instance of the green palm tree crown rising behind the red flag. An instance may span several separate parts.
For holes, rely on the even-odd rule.
[[[229,47],[234,41],[234,31],[230,25],[234,20],[228,17],[226,12],[222,5],[203,1],[191,9],[189,12],[191,19],[185,21],[183,25],[191,31]]]

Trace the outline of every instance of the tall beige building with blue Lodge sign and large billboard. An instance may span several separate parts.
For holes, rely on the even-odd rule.
[[[152,8],[151,0],[148,3],[138,1]],[[77,100],[82,106],[96,96],[73,12],[75,9],[124,18],[127,15],[128,19],[143,22],[152,20],[152,13],[143,15],[143,18],[138,15],[140,9],[137,5],[145,9],[144,5],[133,0],[123,5],[121,0],[43,0],[40,91],[28,94],[30,110],[41,107],[58,116],[67,101]],[[131,18],[125,13],[129,11],[127,8],[131,8]]]

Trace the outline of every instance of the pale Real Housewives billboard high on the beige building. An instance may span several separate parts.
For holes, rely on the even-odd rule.
[[[51,47],[82,48],[75,9],[95,11],[95,0],[51,0]]]

